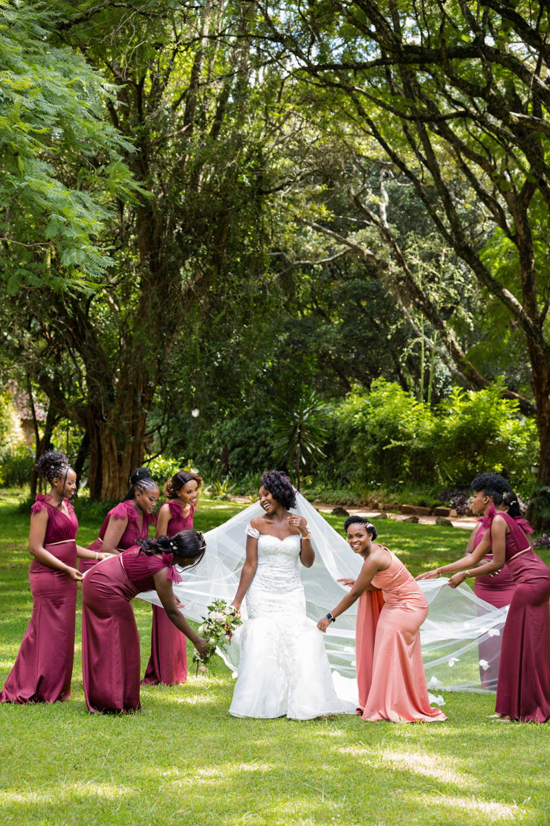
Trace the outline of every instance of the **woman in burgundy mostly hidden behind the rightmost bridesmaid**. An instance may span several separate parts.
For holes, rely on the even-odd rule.
[[[491,487],[493,491],[500,491],[501,494],[505,492],[512,492],[510,482],[506,482],[504,477],[497,473],[480,473],[472,482],[472,491],[485,491],[487,487]],[[468,559],[468,567],[472,565],[471,554],[480,544],[487,532],[487,513],[493,504],[490,496],[483,496],[482,499],[476,498],[472,503],[472,510],[475,514],[480,515],[478,525],[472,530],[468,545],[466,546],[465,559]],[[487,548],[489,553],[483,557],[480,565],[491,562],[493,555],[491,548]],[[456,581],[460,582],[459,577],[463,577],[462,582],[466,579],[467,574],[457,574]],[[508,566],[505,565],[501,571],[487,574],[486,577],[476,577],[476,582],[473,588],[476,596],[481,600],[494,605],[495,608],[504,608],[505,605],[510,605],[515,591],[515,582],[510,577]],[[479,659],[483,665],[479,667],[479,676],[483,688],[489,691],[496,691],[496,683],[498,677],[499,663],[501,660],[501,642],[502,638],[499,636],[489,637],[483,642],[479,643]]]

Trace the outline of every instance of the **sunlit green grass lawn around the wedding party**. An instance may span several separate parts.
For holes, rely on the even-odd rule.
[[[195,527],[236,512],[204,502]],[[31,613],[28,517],[0,498],[0,685]],[[343,520],[330,519],[341,528]],[[82,544],[99,524],[83,523]],[[461,555],[468,533],[379,522],[379,539],[417,573]],[[548,560],[547,560],[548,561]],[[148,659],[150,605],[136,600]],[[88,714],[77,619],[73,699],[0,705],[0,812],[6,824],[550,823],[550,726],[498,724],[491,696],[447,694],[445,724],[356,717],[244,720],[219,661],[183,686],[143,687],[143,713]],[[188,652],[190,659],[190,650]]]

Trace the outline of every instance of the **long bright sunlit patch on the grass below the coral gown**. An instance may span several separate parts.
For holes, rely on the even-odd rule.
[[[391,749],[383,749],[375,751],[369,748],[357,748],[350,746],[347,748],[339,748],[342,754],[352,754],[356,757],[362,757],[364,762],[369,766],[380,767],[383,766],[390,769],[400,769],[401,771],[413,771],[415,774],[420,774],[425,777],[430,777],[432,780],[439,780],[444,783],[454,783],[455,786],[463,786],[473,788],[477,786],[477,782],[472,777],[461,774],[454,768],[453,762],[448,757],[437,755],[436,757],[430,754],[422,754],[421,752],[396,752]]]

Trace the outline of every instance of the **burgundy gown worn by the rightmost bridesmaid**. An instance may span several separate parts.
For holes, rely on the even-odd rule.
[[[524,534],[531,532],[529,522],[494,511],[486,519],[499,517],[510,529],[505,560],[515,591],[502,633],[495,709],[524,723],[545,723],[550,719],[550,568],[529,546]]]

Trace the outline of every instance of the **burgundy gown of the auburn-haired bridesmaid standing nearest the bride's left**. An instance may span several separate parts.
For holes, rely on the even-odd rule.
[[[171,519],[168,522],[167,536],[179,534],[181,530],[193,527],[195,509],[190,506],[188,516],[183,515],[179,501],[169,499]],[[186,635],[176,629],[168,619],[166,611],[159,605],[153,605],[153,628],[151,629],[151,656],[143,676],[142,685],[157,686],[159,682],[175,686],[187,679]]]

